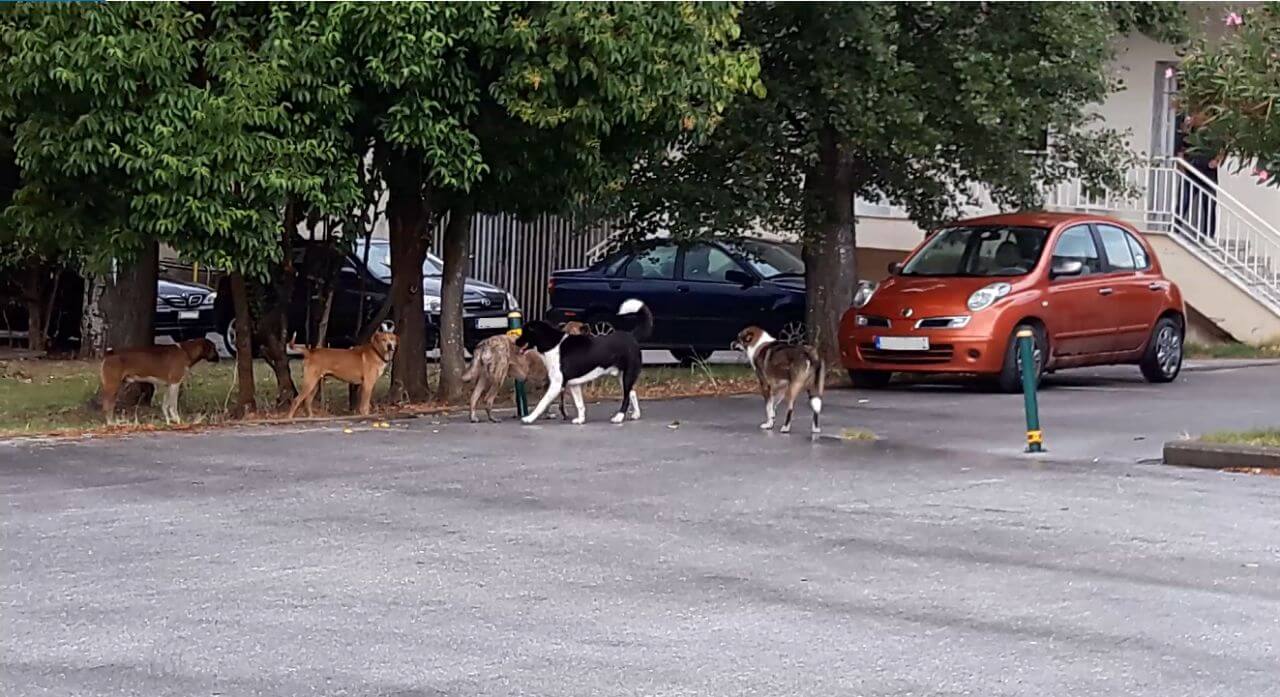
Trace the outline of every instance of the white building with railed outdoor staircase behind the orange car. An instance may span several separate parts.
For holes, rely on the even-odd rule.
[[[1225,31],[1224,19],[1240,4],[1197,3],[1194,31],[1213,41]],[[1084,197],[1078,183],[1047,192],[1046,207],[1112,215],[1138,226],[1156,246],[1166,274],[1181,288],[1189,306],[1193,339],[1235,339],[1263,343],[1280,339],[1280,188],[1258,183],[1253,168],[1228,161],[1216,185],[1189,180],[1170,159],[1174,145],[1174,97],[1178,92],[1178,47],[1146,36],[1125,37],[1116,50],[1112,73],[1124,90],[1098,109],[1106,125],[1126,130],[1129,146],[1147,162],[1128,173],[1143,193]],[[1216,201],[1213,234],[1183,220],[1179,200],[1184,187]],[[888,261],[920,242],[923,231],[904,211],[859,201],[859,272],[883,274]],[[974,212],[978,212],[975,210]],[[988,212],[983,210],[982,212]],[[1194,214],[1192,214],[1194,215]]]

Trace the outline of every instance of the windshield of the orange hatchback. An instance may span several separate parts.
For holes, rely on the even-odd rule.
[[[965,225],[938,230],[902,267],[904,276],[1021,276],[1044,249],[1048,230]]]

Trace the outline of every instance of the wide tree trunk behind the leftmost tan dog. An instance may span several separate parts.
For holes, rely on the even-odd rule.
[[[108,349],[124,350],[155,344],[156,276],[160,272],[160,246],[148,243],[114,274],[84,283],[84,318],[81,326],[81,357],[101,358]],[[125,385],[116,405],[131,408],[151,403],[155,386],[148,382]],[[95,403],[100,403],[95,398]]]

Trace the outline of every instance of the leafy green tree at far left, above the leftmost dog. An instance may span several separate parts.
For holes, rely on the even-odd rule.
[[[312,79],[307,51],[278,31],[291,18],[168,4],[23,5],[0,19],[0,121],[15,124],[23,175],[10,217],[24,239],[81,249],[91,269],[131,281],[105,304],[108,345],[151,343],[159,242],[243,286],[278,258],[287,197],[349,202],[353,175],[335,187],[317,174],[333,164],[332,129],[308,128],[285,98]],[[243,380],[239,408],[252,402]]]

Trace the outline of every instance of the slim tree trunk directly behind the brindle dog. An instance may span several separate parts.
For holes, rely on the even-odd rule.
[[[440,283],[440,399],[457,402],[466,385],[466,347],[462,340],[462,303],[471,251],[471,206],[449,208],[444,228],[444,278]]]

